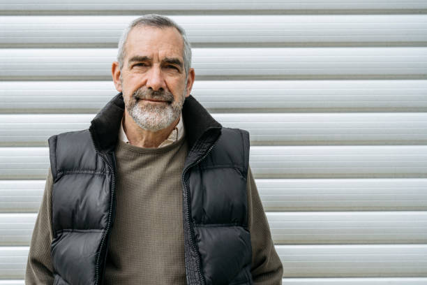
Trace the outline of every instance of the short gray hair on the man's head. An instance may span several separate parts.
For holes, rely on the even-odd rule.
[[[191,66],[191,45],[186,36],[186,31],[184,31],[182,27],[180,27],[176,22],[174,22],[170,18],[165,17],[163,15],[158,15],[158,14],[143,15],[142,17],[139,17],[133,20],[129,24],[129,26],[123,31],[123,34],[121,34],[121,38],[119,41],[119,50],[117,52],[117,61],[119,61],[120,70],[121,68],[123,68],[123,64],[124,64],[123,60],[126,57],[126,50],[124,45],[126,43],[126,40],[128,39],[129,32],[134,27],[158,27],[158,28],[174,27],[176,28],[179,31],[179,34],[181,34],[183,43],[184,43],[183,64],[184,64],[184,69],[186,71],[186,77],[187,77],[188,71]]]

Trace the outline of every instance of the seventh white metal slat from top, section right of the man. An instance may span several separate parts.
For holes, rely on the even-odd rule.
[[[427,210],[427,179],[257,179],[266,211]]]

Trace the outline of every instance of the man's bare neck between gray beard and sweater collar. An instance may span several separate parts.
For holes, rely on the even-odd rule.
[[[149,131],[138,126],[132,117],[130,117],[128,111],[125,110],[123,115],[123,131],[125,131],[130,145],[135,145],[136,147],[158,147],[160,143],[169,137],[175,126],[177,126],[179,118],[165,129]]]

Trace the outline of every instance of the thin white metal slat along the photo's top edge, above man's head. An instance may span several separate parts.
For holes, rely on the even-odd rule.
[[[200,0],[200,1],[172,1],[158,0],[137,1],[128,0],[119,3],[114,0],[91,0],[91,1],[74,1],[63,0],[1,0],[0,10],[82,10],[82,11],[108,11],[114,10],[119,13],[122,10],[142,10],[142,13],[149,11],[183,11],[183,10],[246,10],[248,13],[254,13],[256,10],[373,10],[373,9],[427,9],[427,3],[424,0],[412,1],[389,1],[389,0],[341,0],[341,1],[322,1],[322,0],[282,0],[282,1],[221,1],[221,0]],[[313,11],[310,11],[313,13]]]

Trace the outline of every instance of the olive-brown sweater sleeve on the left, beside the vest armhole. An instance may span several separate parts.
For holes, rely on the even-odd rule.
[[[50,244],[52,243],[52,172],[47,174],[45,191],[34,226],[27,259],[25,284],[52,285],[54,283],[53,268],[50,261]]]

